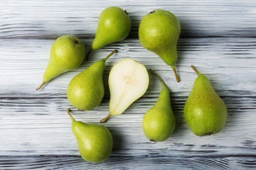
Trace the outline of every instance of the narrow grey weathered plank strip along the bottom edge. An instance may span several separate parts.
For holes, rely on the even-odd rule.
[[[150,162],[149,162],[150,159]],[[3,169],[253,169],[255,157],[143,157],[112,156],[100,164],[84,162],[80,157],[0,157]]]

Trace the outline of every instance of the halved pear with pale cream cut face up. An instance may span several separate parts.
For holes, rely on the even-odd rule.
[[[146,93],[148,86],[149,74],[143,64],[129,58],[114,64],[109,76],[110,114],[100,122],[105,123],[110,116],[122,114]]]

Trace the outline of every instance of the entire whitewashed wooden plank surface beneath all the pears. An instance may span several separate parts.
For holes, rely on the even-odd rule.
[[[43,72],[50,47],[60,35],[76,35],[90,49],[100,12],[109,6],[127,10],[129,37],[95,50],[78,69],[50,81]],[[156,8],[173,12],[181,22],[176,68],[145,50],[138,39],[142,17]],[[76,111],[66,97],[69,81],[93,62],[106,62],[106,94],[93,111]],[[0,2],[0,169],[256,169],[256,1],[35,1]],[[71,131],[67,108],[77,120],[99,123],[108,114],[107,77],[126,57],[154,69],[171,91],[176,117],[174,134],[164,142],[149,142],[142,131],[144,113],[156,102],[161,84],[149,74],[146,94],[105,125],[114,137],[109,159],[83,161]],[[225,128],[217,135],[197,137],[183,118],[196,74],[208,79],[228,107]]]

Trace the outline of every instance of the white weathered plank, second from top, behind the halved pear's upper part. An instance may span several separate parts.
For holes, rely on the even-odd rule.
[[[82,39],[88,50],[92,39]],[[176,83],[174,73],[153,52],[145,50],[138,39],[128,39],[107,45],[92,52],[90,60],[73,72],[68,72],[50,81],[41,91],[35,91],[41,84],[43,72],[49,59],[50,46],[54,40],[0,40],[1,96],[65,97],[69,81],[93,62],[107,56],[112,50],[119,52],[106,62],[104,81],[112,66],[125,57],[141,62],[147,69],[154,69],[176,96],[188,96],[196,79],[190,68],[193,64],[206,74],[220,96],[255,96],[255,52],[254,38],[181,38],[178,42],[176,67],[181,82]],[[8,75],[8,76],[6,76]],[[151,83],[147,93],[159,91],[159,81],[150,74]],[[15,81],[14,81],[15,80]],[[156,88],[157,86],[157,88]],[[107,86],[106,86],[107,89]],[[235,92],[236,91],[236,92]],[[240,91],[240,92],[239,92]],[[235,94],[234,94],[235,93]],[[39,96],[40,94],[40,96]],[[108,91],[106,91],[108,95]]]

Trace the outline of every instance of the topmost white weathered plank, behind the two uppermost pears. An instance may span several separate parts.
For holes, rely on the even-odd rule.
[[[0,38],[55,38],[63,34],[95,36],[100,12],[109,6],[126,9],[137,37],[142,17],[156,8],[176,14],[181,37],[253,37],[256,1],[4,1]]]

